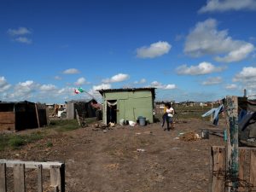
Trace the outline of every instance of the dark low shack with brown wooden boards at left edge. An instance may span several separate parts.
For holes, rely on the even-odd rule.
[[[47,125],[44,104],[0,102],[0,131],[20,131],[44,125]]]

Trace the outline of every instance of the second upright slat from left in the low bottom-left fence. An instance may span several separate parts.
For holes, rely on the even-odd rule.
[[[15,183],[15,192],[26,192],[24,164],[15,164],[14,183]]]

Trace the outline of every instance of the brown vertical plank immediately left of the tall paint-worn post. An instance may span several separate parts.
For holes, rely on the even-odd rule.
[[[212,146],[212,192],[224,192],[225,147]]]

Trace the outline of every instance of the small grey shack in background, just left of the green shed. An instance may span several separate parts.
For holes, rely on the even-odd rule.
[[[75,110],[78,110],[80,117],[92,118],[96,117],[96,108],[92,103],[97,103],[95,99],[71,100],[67,103],[67,119],[76,119]]]

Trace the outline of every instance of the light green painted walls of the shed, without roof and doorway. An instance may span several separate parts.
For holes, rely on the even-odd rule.
[[[103,122],[107,123],[107,101],[117,100],[117,123],[119,119],[136,121],[138,116],[153,122],[154,96],[151,90],[105,92],[103,94]]]

